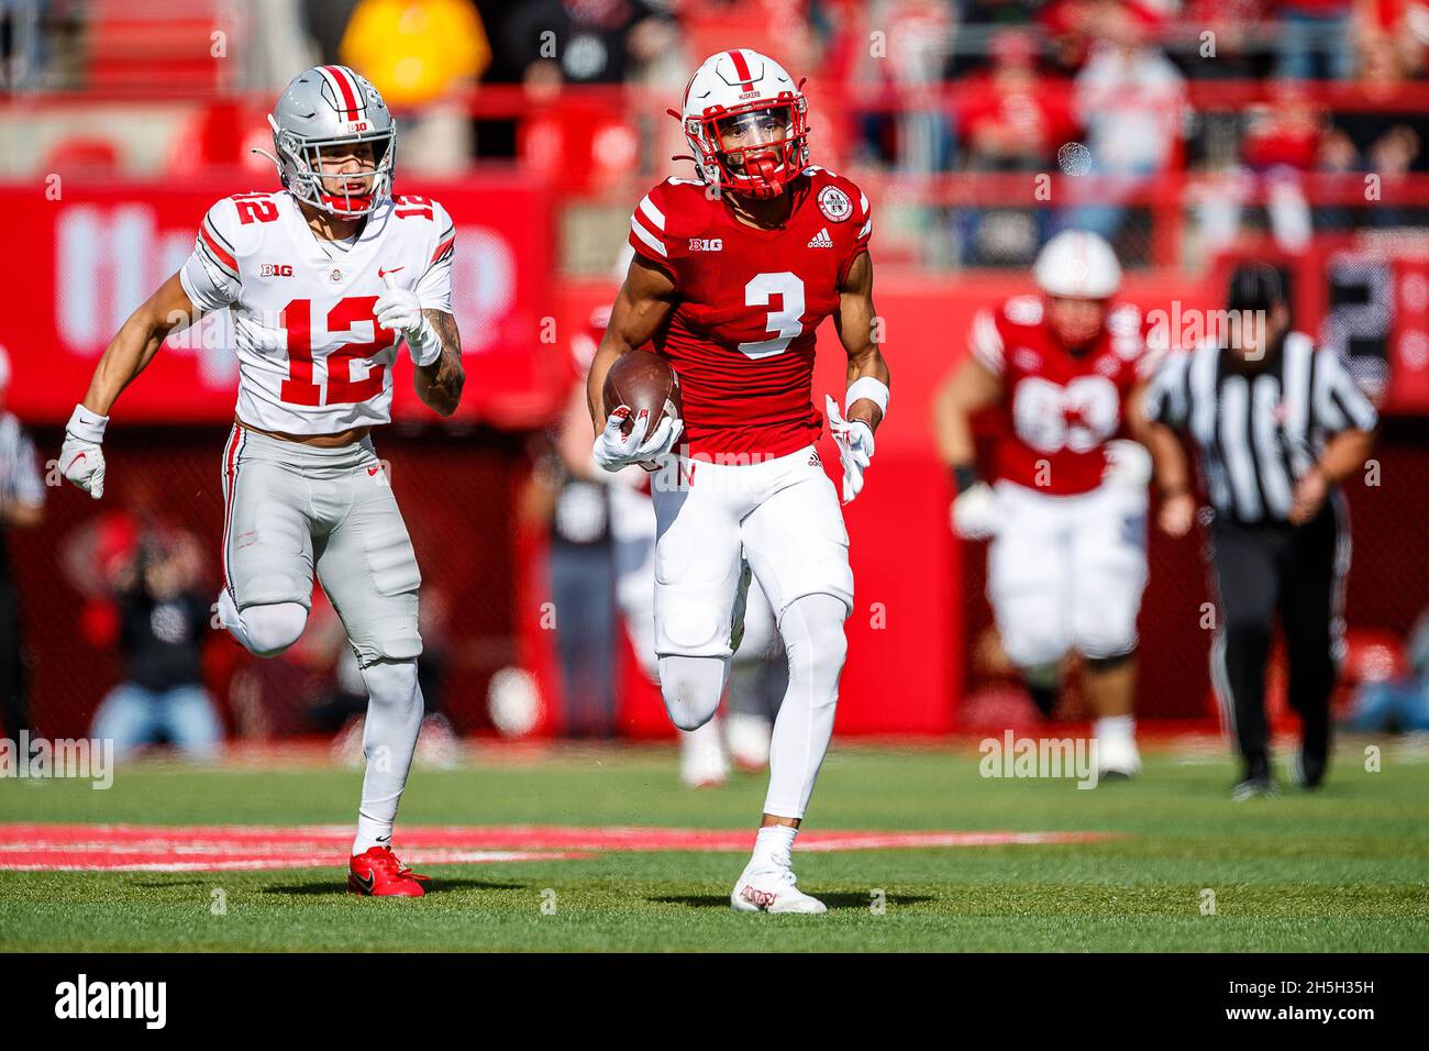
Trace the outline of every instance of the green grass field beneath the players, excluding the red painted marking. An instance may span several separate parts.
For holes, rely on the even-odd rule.
[[[1342,746],[1319,794],[1232,804],[1233,768],[1219,755],[1153,751],[1139,782],[1080,791],[985,779],[972,746],[837,746],[809,829],[1113,835],[796,851],[826,917],[730,912],[743,851],[422,865],[436,881],[427,898],[379,901],[344,892],[337,849],[323,868],[0,871],[0,949],[1429,949],[1429,758],[1386,745],[1382,772],[1366,772],[1360,748]],[[121,766],[109,791],[0,781],[0,825],[347,825],[359,778],[312,764],[151,764]],[[736,776],[682,789],[664,748],[497,751],[416,771],[402,818],[743,829],[763,788],[763,776]],[[879,889],[883,911],[870,908]]]

